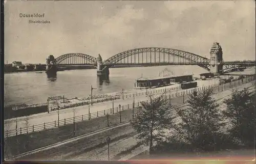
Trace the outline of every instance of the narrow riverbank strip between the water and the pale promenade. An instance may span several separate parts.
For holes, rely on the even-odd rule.
[[[236,74],[253,74],[255,73],[255,69],[247,69],[244,70],[243,72],[236,72]],[[196,75],[194,75],[196,76]],[[221,78],[226,78],[228,79],[231,75],[220,75]],[[238,75],[232,75],[234,78],[238,77]],[[214,81],[212,81],[214,80]],[[209,79],[206,81],[203,80],[198,80],[198,86],[203,86],[203,85],[209,85],[212,82],[218,83],[218,78],[215,79]],[[208,83],[208,84],[207,84]],[[166,87],[162,87],[162,88],[173,88],[176,89],[177,87],[179,87],[178,85],[171,85],[171,86],[166,86]],[[147,89],[147,91],[157,91],[157,90],[161,90],[162,88],[155,88],[155,89]],[[118,92],[112,92],[112,93],[106,93],[106,94],[94,94],[93,95],[93,103],[100,103],[100,102],[106,102],[106,101],[112,101],[112,100],[116,100],[116,99],[132,99],[133,96],[140,96],[143,94],[143,92],[146,92],[146,89],[129,89],[129,90],[120,90]],[[57,107],[59,106],[59,109],[64,109],[64,108],[70,108],[70,107],[77,107],[77,106],[81,106],[81,105],[89,105],[91,102],[91,95],[88,96],[84,96],[84,97],[73,97],[70,98],[68,96],[63,96],[63,99],[59,99],[59,100],[54,100],[54,101],[49,101],[49,112],[57,110]],[[10,109],[22,109],[22,108],[29,108],[29,107],[38,107],[38,106],[42,106],[42,105],[47,105],[48,103],[47,101],[45,103],[35,103],[35,104],[26,104],[26,103],[22,103],[22,104],[15,104],[15,105],[5,105],[5,110],[10,110]]]

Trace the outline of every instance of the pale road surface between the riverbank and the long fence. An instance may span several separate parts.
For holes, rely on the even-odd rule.
[[[198,87],[206,87],[209,85],[214,85],[214,84],[218,84],[218,79],[214,79],[214,80],[198,80]],[[168,88],[172,88],[173,86],[168,86],[166,87],[166,89]],[[152,89],[152,90],[148,90],[148,92],[150,91],[154,91],[154,90],[159,90],[159,89],[165,89],[165,87],[162,88],[157,88],[157,89]],[[195,88],[193,88],[195,89]],[[188,89],[188,92],[190,90],[193,89]],[[184,92],[185,90],[171,90],[170,94],[176,94],[176,93],[181,93]],[[155,93],[155,95],[159,95],[162,93]],[[138,103],[140,101],[144,101],[147,100],[146,95],[143,96],[136,96],[135,97],[135,102]],[[119,104],[120,105],[126,105],[126,104],[131,104],[133,103],[133,98],[131,97],[130,99],[119,99],[119,100],[115,100],[114,101],[114,108],[118,107]],[[109,110],[110,108],[113,107],[113,102],[102,102],[102,103],[97,103],[94,104],[93,106],[90,106],[90,113],[96,113],[97,111],[104,111],[104,110]],[[118,107],[119,108],[119,107]],[[89,106],[77,106],[75,107],[75,116],[81,116],[81,115],[87,115],[89,113]],[[107,112],[106,112],[107,113]],[[110,112],[109,112],[110,113]],[[66,108],[63,110],[59,110],[59,120],[62,119],[68,119],[68,118],[73,118],[74,112],[73,112],[73,108]],[[17,128],[19,129],[20,127],[25,128],[26,125],[26,117],[20,117],[17,119]],[[38,124],[44,124],[44,123],[48,123],[48,122],[53,122],[58,120],[58,114],[57,111],[51,112],[51,113],[42,113],[42,114],[36,114],[36,115],[31,115],[28,116],[28,126],[32,126],[32,125],[38,125]],[[16,127],[16,121],[15,119],[8,119],[5,120],[5,131],[6,130],[13,130]],[[42,127],[43,129],[43,127]]]

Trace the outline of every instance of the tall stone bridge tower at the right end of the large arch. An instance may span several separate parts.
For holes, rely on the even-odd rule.
[[[215,42],[210,49],[210,72],[214,74],[222,73],[222,48],[219,43]]]

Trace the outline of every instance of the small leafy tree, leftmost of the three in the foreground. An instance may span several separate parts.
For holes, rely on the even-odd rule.
[[[164,129],[174,125],[175,115],[170,112],[171,104],[164,100],[164,94],[154,98],[148,95],[149,101],[141,102],[142,107],[135,114],[131,122],[132,127],[138,132],[136,139],[139,143],[150,146],[163,139]]]

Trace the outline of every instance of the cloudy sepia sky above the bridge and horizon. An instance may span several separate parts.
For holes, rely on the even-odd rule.
[[[224,61],[255,60],[254,1],[6,1],[4,8],[5,63],[44,64],[50,54],[66,53],[100,53],[106,60],[140,47],[209,58],[214,42]]]

